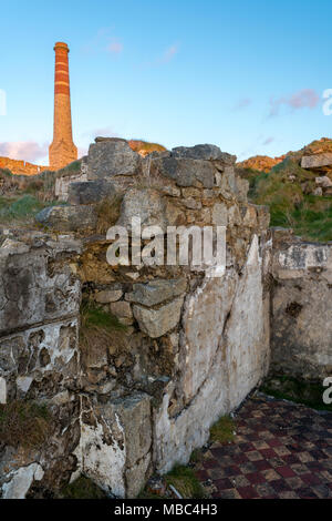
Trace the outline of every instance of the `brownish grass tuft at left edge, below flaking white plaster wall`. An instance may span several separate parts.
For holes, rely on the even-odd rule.
[[[49,437],[52,416],[34,401],[0,405],[0,441],[11,447],[40,447]]]

